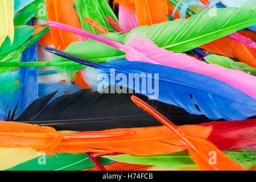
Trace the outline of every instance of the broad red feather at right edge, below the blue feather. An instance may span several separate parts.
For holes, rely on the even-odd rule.
[[[208,140],[216,144],[220,150],[241,150],[255,144],[256,119],[210,122],[201,125],[213,126],[213,131]]]

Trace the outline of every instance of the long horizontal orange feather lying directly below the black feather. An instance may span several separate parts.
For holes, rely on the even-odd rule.
[[[179,126],[184,133],[206,139],[212,127]],[[33,148],[46,154],[56,152],[121,152],[145,156],[187,150],[183,140],[166,126],[59,134],[51,127],[0,122],[0,147]]]

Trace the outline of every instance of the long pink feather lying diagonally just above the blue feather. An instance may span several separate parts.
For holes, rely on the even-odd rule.
[[[49,26],[85,36],[117,48],[126,53],[126,59],[129,61],[161,64],[200,73],[225,82],[256,100],[256,77],[245,72],[224,68],[216,64],[208,64],[184,53],[167,51],[166,49],[156,46],[151,40],[142,38],[143,35],[133,35],[125,45],[123,45],[100,35],[92,34],[63,23],[48,21],[48,24]]]

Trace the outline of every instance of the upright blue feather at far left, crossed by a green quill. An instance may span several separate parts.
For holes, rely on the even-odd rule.
[[[22,62],[37,61],[38,44],[35,43],[22,53]],[[21,67],[19,69],[18,108],[20,113],[38,98],[38,68]]]

